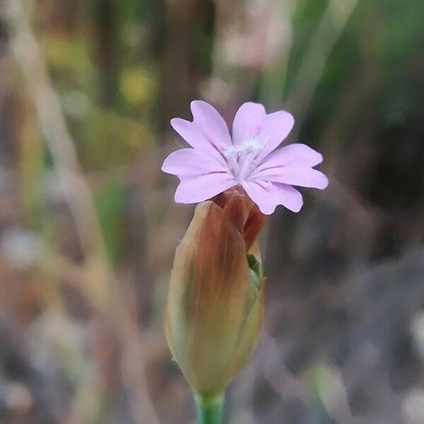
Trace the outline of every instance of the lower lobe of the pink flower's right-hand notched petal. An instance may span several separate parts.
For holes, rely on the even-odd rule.
[[[253,181],[282,182],[300,187],[325,189],[329,179],[320,171],[307,167],[273,167],[252,175]]]

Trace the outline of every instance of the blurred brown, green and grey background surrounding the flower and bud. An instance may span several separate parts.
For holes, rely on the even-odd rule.
[[[205,99],[324,154],[262,237],[232,424],[424,423],[423,0],[0,0],[0,422],[194,423],[163,334]]]

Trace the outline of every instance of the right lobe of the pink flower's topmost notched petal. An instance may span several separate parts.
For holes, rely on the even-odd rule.
[[[274,151],[288,136],[294,124],[295,119],[285,110],[267,114],[257,134],[259,140],[265,141],[264,148],[259,152],[257,159],[261,161]]]

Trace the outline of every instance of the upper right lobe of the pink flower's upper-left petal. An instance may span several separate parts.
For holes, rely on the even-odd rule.
[[[228,126],[215,107],[203,100],[194,100],[190,104],[193,122],[199,130],[211,141],[213,146],[222,151],[231,145],[231,136]]]

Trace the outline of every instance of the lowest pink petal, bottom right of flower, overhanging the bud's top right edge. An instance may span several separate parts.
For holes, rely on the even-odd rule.
[[[271,215],[277,205],[283,205],[292,212],[299,212],[303,205],[302,194],[286,184],[249,181],[243,183],[243,188],[265,215]]]

